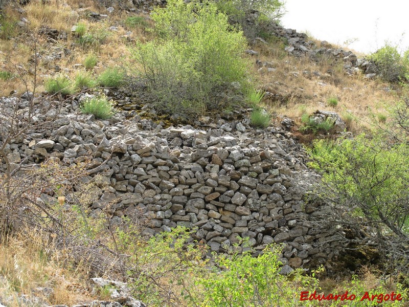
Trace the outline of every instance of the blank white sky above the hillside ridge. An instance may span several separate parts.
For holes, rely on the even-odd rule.
[[[409,47],[407,0],[285,1],[285,28],[308,31],[319,40],[339,45],[358,38],[349,48],[364,53],[375,52],[385,40],[403,50]]]

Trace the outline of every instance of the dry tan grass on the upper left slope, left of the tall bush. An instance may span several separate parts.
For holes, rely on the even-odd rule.
[[[71,54],[63,54],[61,59],[51,63],[47,63],[46,60],[39,61],[37,93],[44,91],[44,79],[58,73],[54,70],[55,65],[58,65],[64,74],[74,79],[78,70],[84,69],[81,64],[85,56],[94,53],[98,57],[94,72],[98,74],[107,67],[126,65],[129,61],[128,46],[134,45],[134,41],[147,41],[152,38],[152,33],[146,29],[126,27],[124,21],[126,17],[130,16],[129,13],[115,10],[109,14],[105,8],[98,7],[93,0],[67,0],[65,4],[59,0],[50,0],[46,5],[42,5],[41,0],[33,0],[25,6],[25,11],[26,13],[21,15],[12,7],[6,8],[6,15],[10,20],[15,21],[21,17],[26,17],[30,24],[26,30],[20,31],[18,37],[0,38],[0,71],[8,71],[14,75],[11,80],[0,80],[0,96],[7,96],[15,90],[18,94],[24,93],[26,88],[21,78],[28,81],[29,90],[32,91],[34,65],[30,60],[34,55],[34,44],[30,36],[36,40],[37,53],[42,57],[52,55],[58,48],[71,50]],[[109,16],[105,20],[93,21],[87,17],[87,13],[91,11]],[[104,41],[98,46],[85,49],[77,46],[73,49],[72,46],[75,45],[77,37],[71,34],[71,29],[79,22],[86,25],[86,33],[106,35]],[[147,19],[147,24],[152,25],[152,22]],[[67,40],[59,40],[55,44],[49,43],[46,37],[38,34],[39,28],[43,26],[65,31]],[[111,26],[117,27],[117,31],[110,31],[109,27]],[[130,34],[129,31],[132,33]]]

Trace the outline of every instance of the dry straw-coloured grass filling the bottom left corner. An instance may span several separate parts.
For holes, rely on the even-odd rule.
[[[41,234],[9,237],[0,244],[0,298],[8,306],[19,306],[22,294],[48,304],[75,304],[92,300],[83,277],[64,269],[65,258],[44,250]],[[51,260],[52,259],[52,260]],[[49,288],[50,292],[41,288]]]

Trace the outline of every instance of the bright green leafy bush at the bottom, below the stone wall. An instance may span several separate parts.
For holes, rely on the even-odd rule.
[[[267,246],[258,257],[251,253],[215,256],[214,270],[196,276],[202,290],[193,293],[195,302],[209,307],[309,306],[313,302],[300,302],[298,292],[313,292],[317,279],[303,276],[302,270],[290,277],[281,275],[278,253],[277,246]]]

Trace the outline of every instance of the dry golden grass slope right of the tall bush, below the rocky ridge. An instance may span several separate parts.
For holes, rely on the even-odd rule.
[[[326,109],[340,115],[349,113],[354,120],[348,125],[351,130],[357,131],[369,126],[371,112],[386,113],[385,108],[397,99],[394,91],[385,90],[390,87],[388,83],[366,80],[359,74],[346,74],[342,61],[328,56],[323,56],[318,62],[307,57],[275,57],[275,54],[283,52],[282,48],[280,44],[257,48],[260,51],[258,59],[269,62],[269,67],[275,71],[267,72],[264,69],[260,72],[260,67],[256,65],[254,69],[260,87],[274,94],[274,98],[268,102],[277,114],[297,119],[302,115],[300,105],[307,113],[316,109]],[[314,75],[314,72],[320,76]],[[329,97],[338,98],[337,106],[328,105]]]

